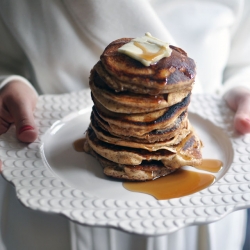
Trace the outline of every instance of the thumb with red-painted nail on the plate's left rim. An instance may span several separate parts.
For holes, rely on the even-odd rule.
[[[29,100],[19,100],[9,109],[16,125],[17,138],[22,142],[33,142],[38,130],[33,116],[33,105]]]

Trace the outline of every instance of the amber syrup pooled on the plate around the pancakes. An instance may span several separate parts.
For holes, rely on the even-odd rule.
[[[73,147],[77,152],[84,152],[85,138],[76,140]],[[216,159],[203,159],[202,164],[196,167],[199,170],[218,173],[223,163]],[[179,169],[170,175],[153,181],[123,182],[123,187],[132,192],[140,192],[154,196],[158,200],[179,198],[193,194],[207,188],[215,181],[210,173]]]

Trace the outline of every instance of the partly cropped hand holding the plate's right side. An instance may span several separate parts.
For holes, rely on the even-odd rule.
[[[228,106],[234,110],[234,127],[242,134],[250,133],[250,90],[244,87],[233,88],[225,95]]]

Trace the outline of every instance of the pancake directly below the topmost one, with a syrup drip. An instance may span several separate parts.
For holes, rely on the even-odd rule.
[[[181,102],[190,91],[179,91],[162,95],[135,94],[131,92],[115,92],[107,86],[95,70],[91,71],[90,89],[95,100],[106,109],[115,113],[146,113],[170,107]]]

